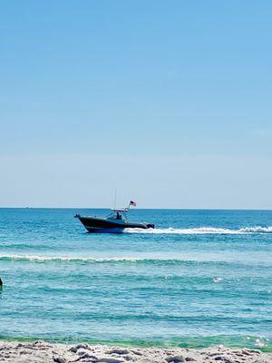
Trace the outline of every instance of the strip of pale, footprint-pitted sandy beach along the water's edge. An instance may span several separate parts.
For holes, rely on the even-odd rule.
[[[34,343],[0,342],[1,362],[20,363],[72,363],[72,362],[156,362],[156,363],[269,363],[270,353],[258,349],[226,348],[218,346],[205,349],[187,348],[121,348],[102,345],[50,344],[44,341]]]

